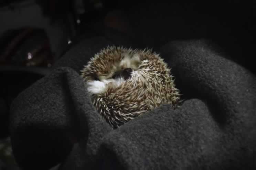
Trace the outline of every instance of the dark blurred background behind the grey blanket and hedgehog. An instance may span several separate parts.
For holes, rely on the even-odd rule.
[[[68,49],[103,35],[158,51],[171,40],[209,39],[251,72],[255,58],[255,1],[0,2],[0,138],[9,146],[9,108],[26,87],[51,71]],[[32,58],[29,56],[32,55]],[[3,147],[0,147],[0,151]],[[0,154],[2,167],[17,168]]]

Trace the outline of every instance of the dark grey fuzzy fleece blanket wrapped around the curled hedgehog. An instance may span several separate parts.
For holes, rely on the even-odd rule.
[[[104,37],[80,41],[13,101],[11,142],[20,167],[256,168],[254,74],[211,41],[171,41],[158,52],[172,68],[182,106],[161,105],[113,130],[94,109],[79,71],[114,44]]]

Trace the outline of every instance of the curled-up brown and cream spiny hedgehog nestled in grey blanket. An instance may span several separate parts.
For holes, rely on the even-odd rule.
[[[152,50],[108,46],[81,71],[94,107],[115,129],[180,94],[163,59]]]

